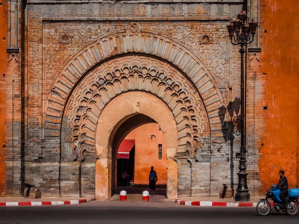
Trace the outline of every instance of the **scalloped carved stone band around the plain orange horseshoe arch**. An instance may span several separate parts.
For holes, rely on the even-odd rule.
[[[135,55],[111,59],[95,67],[72,92],[61,126],[64,162],[109,157],[110,152],[100,153],[95,148],[95,130],[100,114],[113,98],[132,90],[151,93],[168,106],[178,133],[177,157],[198,160],[203,154],[209,157],[210,128],[199,93],[168,62]],[[147,104],[151,105],[151,102]]]

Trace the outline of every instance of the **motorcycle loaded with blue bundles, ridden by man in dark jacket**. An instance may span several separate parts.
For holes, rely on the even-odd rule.
[[[286,206],[281,199],[279,198],[280,189],[272,186],[269,188],[265,195],[265,199],[260,199],[260,201],[257,203],[257,213],[262,216],[266,216],[270,213],[271,209],[272,211],[283,211],[286,212],[289,215],[296,215],[298,213],[299,207],[298,207],[298,198],[294,197],[293,194],[290,194],[292,190],[295,190],[298,188],[290,189],[289,190],[289,196],[287,197],[288,205]],[[271,204],[268,201],[268,199],[273,200],[274,206],[271,208]]]

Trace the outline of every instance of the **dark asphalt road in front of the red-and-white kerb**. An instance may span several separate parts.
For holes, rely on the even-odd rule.
[[[250,207],[201,207],[174,202],[92,201],[78,205],[3,206],[0,223],[298,223],[298,215],[271,213],[266,217]]]

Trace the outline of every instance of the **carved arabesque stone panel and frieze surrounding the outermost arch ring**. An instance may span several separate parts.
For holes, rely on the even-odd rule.
[[[99,8],[95,7],[94,4],[80,4],[80,7],[72,4],[28,5],[28,88],[30,88],[30,96],[28,97],[28,118],[30,117],[28,132],[39,132],[36,122],[41,122],[41,119],[37,111],[39,113],[43,111],[43,114],[46,113],[48,105],[47,96],[51,93],[58,75],[61,74],[62,67],[70,62],[75,54],[80,53],[84,47],[86,48],[89,45],[100,42],[100,40],[106,41],[105,37],[112,34],[158,34],[162,37],[164,36],[167,40],[173,41],[177,46],[186,47],[197,56],[201,64],[206,65],[205,69],[210,71],[215,84],[218,85],[217,89],[222,89],[221,92],[225,93],[225,79],[228,75],[228,69],[225,64],[225,55],[227,55],[226,22],[216,22],[213,24],[186,21],[176,21],[175,23],[172,21],[106,23],[97,20],[97,22],[91,24],[82,21],[69,23],[47,20],[47,16],[60,17],[59,21],[66,17],[69,20],[73,16],[157,15],[163,17],[167,15],[199,16],[206,14],[201,4],[194,5],[196,5],[196,10],[191,7],[191,4],[187,6],[188,9],[186,5],[175,7],[152,5],[149,7],[149,5],[138,4],[126,8],[111,5],[103,5],[103,7]],[[80,10],[78,10],[78,7]],[[43,23],[42,21],[45,22]],[[111,39],[109,41],[112,42],[114,40]],[[43,46],[42,52],[40,51],[41,46]],[[84,61],[89,55],[84,56],[83,53],[83,57]],[[93,65],[92,60],[90,63]],[[192,60],[191,63],[193,63]],[[42,88],[35,88],[36,84],[42,86]],[[43,102],[37,100],[41,96]],[[220,101],[223,102],[221,96],[219,97]],[[214,118],[216,119],[216,117],[212,119]],[[45,118],[43,118],[44,120]],[[213,123],[213,125],[217,124]],[[218,128],[214,130],[218,130]],[[37,137],[41,139],[39,134]],[[197,151],[197,154],[199,154],[199,151]]]

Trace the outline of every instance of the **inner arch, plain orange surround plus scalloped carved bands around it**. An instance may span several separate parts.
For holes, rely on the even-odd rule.
[[[156,122],[164,132],[168,197],[186,194],[184,177],[178,187],[174,157],[210,158],[210,127],[199,92],[179,70],[150,57],[114,58],[94,67],[68,97],[63,117],[62,160],[96,160],[99,199],[110,198],[116,187],[115,148],[142,124]]]

